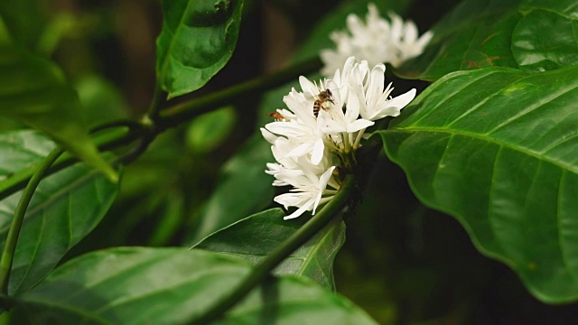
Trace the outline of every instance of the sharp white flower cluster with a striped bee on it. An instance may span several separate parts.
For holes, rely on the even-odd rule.
[[[398,116],[415,98],[415,89],[396,98],[384,89],[386,67],[369,70],[368,61],[346,60],[332,79],[319,84],[300,77],[303,91],[294,88],[283,98],[289,109],[277,109],[275,122],[261,132],[272,144],[277,163],[267,163],[267,173],[275,176],[273,185],[293,186],[289,193],[275,197],[288,207],[297,207],[291,215],[297,218],[331,200],[340,189],[343,171],[355,162],[366,128],[386,116]]]

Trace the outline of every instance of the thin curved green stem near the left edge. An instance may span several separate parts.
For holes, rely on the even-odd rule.
[[[16,243],[20,235],[20,229],[22,228],[26,209],[28,209],[30,200],[33,199],[34,191],[38,187],[40,181],[42,181],[42,177],[44,177],[44,174],[51,167],[52,163],[56,162],[62,153],[64,153],[64,150],[60,147],[52,149],[51,153],[49,153],[48,156],[42,161],[42,163],[40,163],[40,165],[36,168],[36,171],[28,182],[28,185],[26,185],[26,189],[23,191],[22,197],[18,201],[18,206],[14,211],[12,224],[8,230],[8,237],[6,237],[4,251],[2,252],[2,259],[0,259],[0,283],[2,285],[0,290],[4,295],[8,294],[8,283],[10,280],[12,264],[14,262],[14,251],[16,250]]]

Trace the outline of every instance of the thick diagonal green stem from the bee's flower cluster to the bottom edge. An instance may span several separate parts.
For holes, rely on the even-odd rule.
[[[251,292],[256,285],[263,282],[266,277],[269,276],[276,265],[283,262],[287,256],[327,226],[335,215],[350,201],[351,193],[355,188],[355,177],[353,174],[349,174],[346,176],[335,197],[329,201],[321,211],[304,224],[302,228],[299,228],[293,236],[287,238],[282,245],[277,246],[261,263],[256,265],[253,272],[248,274],[247,278],[239,284],[237,289],[217,302],[209,311],[202,314],[199,318],[191,320],[191,324],[208,324],[213,320],[217,320],[223,313],[242,300],[248,292]]]

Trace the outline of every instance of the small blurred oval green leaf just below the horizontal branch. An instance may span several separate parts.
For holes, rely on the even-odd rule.
[[[195,153],[207,153],[222,144],[233,131],[233,107],[221,107],[195,118],[187,129],[187,145]]]

